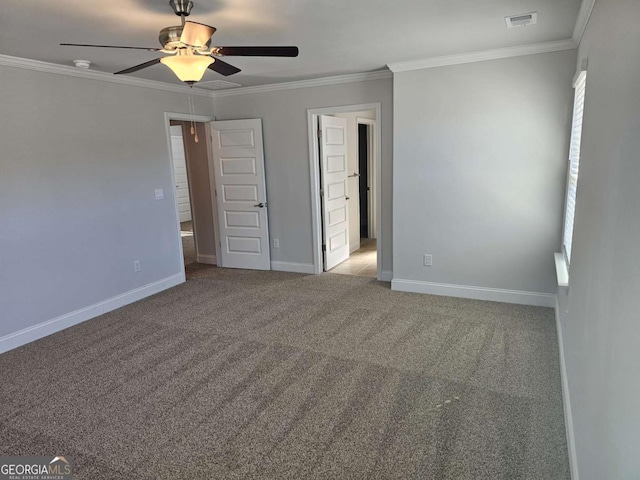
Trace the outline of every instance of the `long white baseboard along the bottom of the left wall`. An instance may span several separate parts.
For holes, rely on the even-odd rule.
[[[10,333],[0,338],[0,353],[8,352],[9,350],[39,340],[65,328],[72,327],[130,303],[137,302],[162,290],[175,287],[184,281],[184,272],[172,275],[171,277],[130,290],[121,295],[109,298],[108,300],[81,308],[52,320],[47,320],[46,322],[33,325],[18,332]]]

